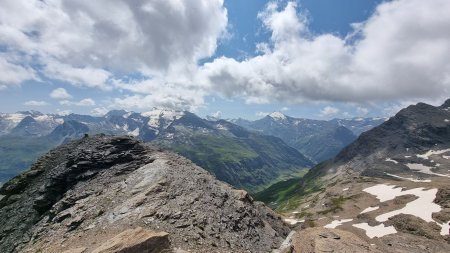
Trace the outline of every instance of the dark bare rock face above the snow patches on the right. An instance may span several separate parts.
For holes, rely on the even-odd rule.
[[[448,101],[447,101],[448,102]],[[431,148],[447,148],[450,143],[450,110],[442,105],[411,105],[380,126],[363,133],[335,158],[345,163],[375,153],[417,154]],[[408,153],[409,152],[409,153]]]

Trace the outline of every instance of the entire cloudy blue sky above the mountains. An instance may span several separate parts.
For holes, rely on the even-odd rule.
[[[450,97],[448,0],[1,5],[1,112],[331,119]]]

